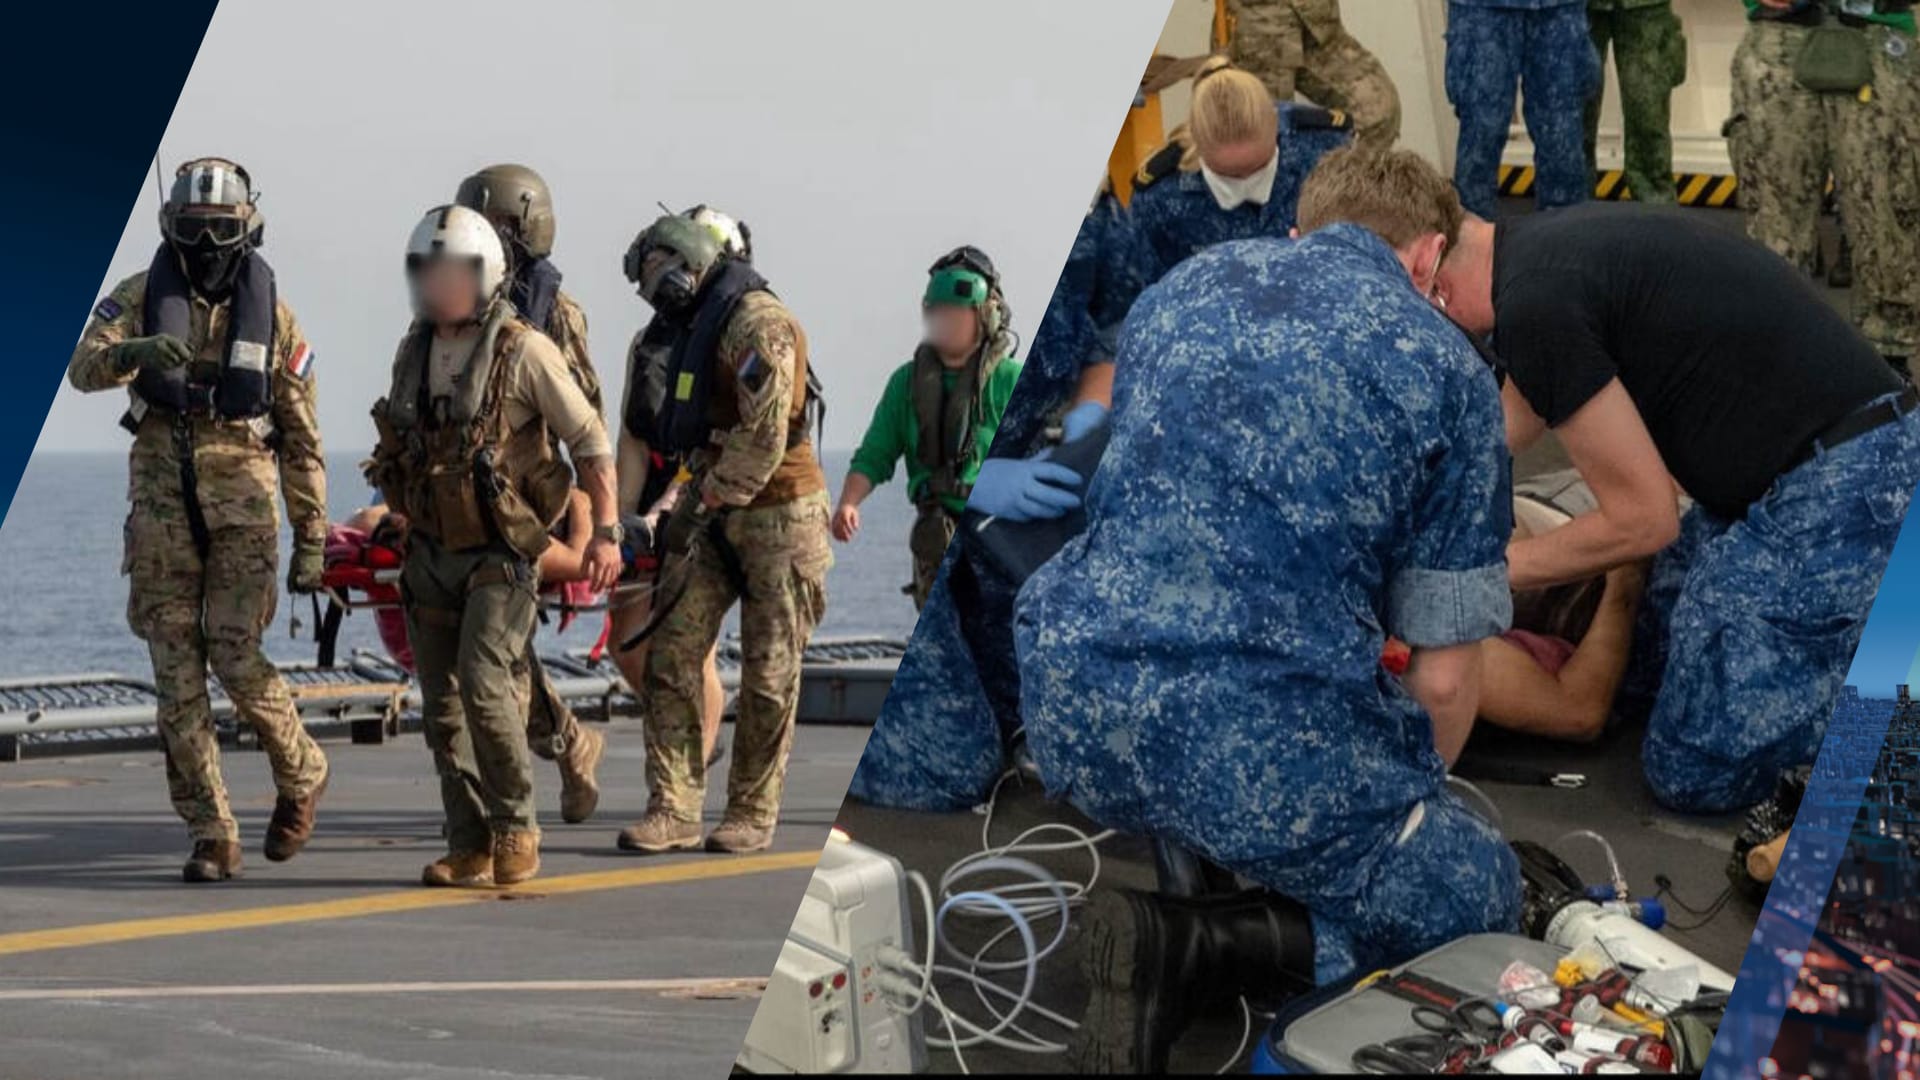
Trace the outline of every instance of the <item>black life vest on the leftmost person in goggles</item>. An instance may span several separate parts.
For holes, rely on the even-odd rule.
[[[194,380],[188,377],[192,363],[171,371],[142,369],[132,380],[134,394],[148,405],[177,413],[211,413],[221,419],[267,415],[273,411],[273,267],[259,252],[250,252],[234,273],[219,377],[213,382]],[[194,340],[194,290],[167,244],[159,246],[146,271],[140,332]]]

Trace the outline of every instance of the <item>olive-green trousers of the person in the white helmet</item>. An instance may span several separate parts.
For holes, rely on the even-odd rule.
[[[505,550],[447,552],[415,532],[399,588],[447,847],[490,851],[495,832],[536,824],[520,696],[534,569]]]

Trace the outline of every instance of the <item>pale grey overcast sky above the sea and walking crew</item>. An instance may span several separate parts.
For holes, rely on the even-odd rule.
[[[161,161],[169,179],[204,154],[252,171],[330,450],[372,442],[409,319],[407,233],[493,161],[553,188],[553,258],[609,407],[647,319],[620,256],[655,200],[708,202],[753,227],[828,384],[826,446],[847,448],[954,244],[993,254],[1031,340],[1165,15],[1167,0],[223,0]],[[154,256],[154,188],[138,183],[102,294]],[[123,409],[61,384],[38,450],[121,448]]]

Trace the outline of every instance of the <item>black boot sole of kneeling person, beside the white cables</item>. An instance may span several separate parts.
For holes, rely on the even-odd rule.
[[[1068,1040],[1069,1072],[1165,1072],[1165,1047],[1152,1045],[1156,970],[1144,957],[1162,951],[1158,922],[1123,892],[1096,892],[1087,903],[1087,1015]],[[1169,988],[1173,990],[1173,988]],[[1158,1057],[1158,1063],[1154,1061]]]

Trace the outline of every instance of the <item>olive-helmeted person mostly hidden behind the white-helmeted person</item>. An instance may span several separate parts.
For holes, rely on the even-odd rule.
[[[566,369],[595,413],[605,415],[599,373],[588,357],[588,315],[561,290],[561,269],[553,265],[553,194],[547,181],[526,165],[488,165],[461,181],[453,202],[478,209],[499,231],[507,248],[507,298],[522,319],[553,338]],[[538,632],[538,630],[536,630]],[[580,726],[580,719],[553,690],[547,665],[530,640],[526,646],[526,744],[561,767],[561,821],[582,822],[599,805],[593,771],[607,753],[601,732]]]

